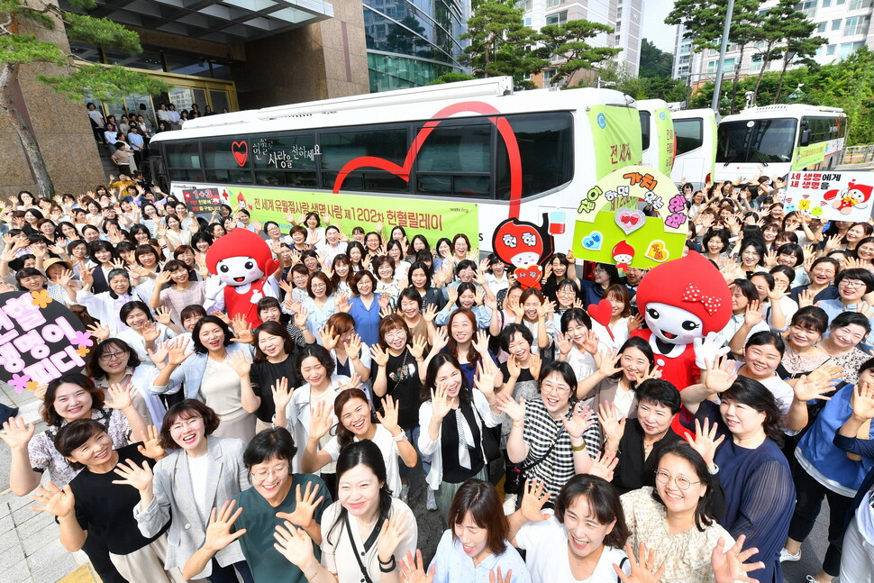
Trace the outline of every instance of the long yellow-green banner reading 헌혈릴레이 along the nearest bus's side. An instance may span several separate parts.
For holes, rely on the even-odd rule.
[[[381,223],[384,232],[396,226],[404,227],[407,237],[423,234],[432,245],[441,237],[463,232],[470,241],[478,241],[478,206],[456,201],[437,201],[390,196],[335,195],[325,192],[305,192],[278,188],[229,188],[232,206],[245,205],[252,219],[265,223],[274,221],[279,228],[290,228],[288,215],[297,222],[304,214],[318,213],[322,222],[329,221],[351,234],[352,227],[376,231]]]

